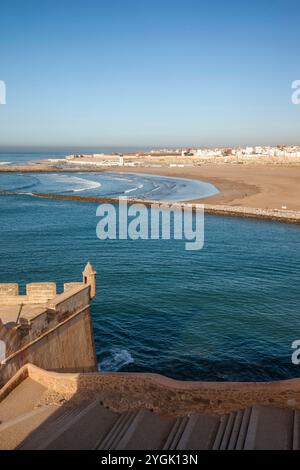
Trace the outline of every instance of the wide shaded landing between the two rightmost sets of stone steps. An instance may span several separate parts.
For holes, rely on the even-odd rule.
[[[181,435],[176,450],[208,450],[215,441],[220,417],[192,415]]]

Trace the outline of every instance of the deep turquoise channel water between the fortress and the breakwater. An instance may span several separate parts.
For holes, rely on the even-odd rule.
[[[103,370],[185,380],[296,377],[300,227],[205,217],[205,245],[96,237],[93,203],[0,197],[0,282],[98,273],[92,315]]]

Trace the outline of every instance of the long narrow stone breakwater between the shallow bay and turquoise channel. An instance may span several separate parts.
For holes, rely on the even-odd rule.
[[[18,193],[2,191],[0,195],[17,195]],[[63,199],[66,201],[81,201],[81,202],[95,202],[98,204],[101,203],[112,203],[117,204],[122,202],[122,198],[108,198],[108,197],[92,197],[92,196],[74,196],[67,194],[43,194],[35,193],[31,196],[47,198],[47,199]],[[151,201],[146,199],[126,199],[129,205],[132,204],[145,204],[146,206],[157,205],[161,208],[169,207],[172,204],[172,207],[175,209],[190,208],[191,210],[196,210],[201,204],[187,202],[168,202],[168,201]],[[235,216],[235,217],[247,217],[254,219],[266,219],[273,220],[276,222],[286,222],[300,224],[300,211],[291,211],[286,209],[259,209],[254,207],[244,207],[244,206],[229,206],[229,205],[213,205],[213,204],[204,204],[204,210],[206,214],[215,214],[215,215],[226,215],[226,216]]]

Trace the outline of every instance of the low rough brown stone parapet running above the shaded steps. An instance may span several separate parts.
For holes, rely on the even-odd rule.
[[[47,372],[30,364],[0,392],[0,401],[25,376],[48,390],[45,403],[97,396],[108,408],[123,412],[147,408],[168,416],[229,413],[254,405],[300,408],[300,379],[277,382],[184,382],[158,374]]]

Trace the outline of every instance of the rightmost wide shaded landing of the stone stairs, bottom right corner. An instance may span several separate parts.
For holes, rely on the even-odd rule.
[[[244,449],[292,449],[293,430],[294,411],[254,406],[249,420]]]

